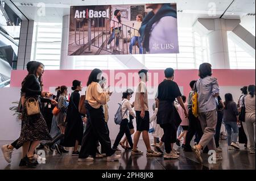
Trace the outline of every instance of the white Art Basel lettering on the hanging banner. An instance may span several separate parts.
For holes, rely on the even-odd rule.
[[[75,19],[76,18],[108,18],[108,10],[106,11],[94,11],[94,10],[83,10],[83,11],[79,11],[76,10],[75,12]]]

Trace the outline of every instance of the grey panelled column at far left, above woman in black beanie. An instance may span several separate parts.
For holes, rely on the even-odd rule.
[[[34,21],[23,20],[20,27],[17,70],[26,70],[26,65],[31,60],[33,31]]]

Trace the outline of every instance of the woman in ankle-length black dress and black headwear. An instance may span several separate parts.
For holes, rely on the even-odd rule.
[[[79,112],[80,94],[82,91],[81,81],[74,80],[72,82],[72,94],[70,96],[67,116],[65,122],[67,126],[64,133],[64,141],[61,146],[74,147],[72,156],[78,156],[78,146],[82,142],[82,134],[84,133],[84,126],[82,125],[82,115]]]

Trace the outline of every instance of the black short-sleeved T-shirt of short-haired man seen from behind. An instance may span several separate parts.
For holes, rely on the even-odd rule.
[[[159,100],[170,100],[173,102],[177,96],[181,96],[181,93],[176,82],[164,80],[159,84],[158,95],[156,95]]]

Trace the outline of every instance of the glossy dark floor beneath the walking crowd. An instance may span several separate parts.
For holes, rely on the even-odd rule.
[[[0,141],[0,145],[10,141]],[[139,141],[139,148],[144,151],[144,155],[131,155],[130,151],[122,150],[122,158],[117,162],[106,162],[106,158],[96,159],[94,162],[77,162],[77,157],[72,157],[70,153],[57,155],[46,154],[46,164],[39,164],[35,169],[39,170],[81,170],[81,169],[110,169],[110,170],[205,170],[205,169],[244,169],[255,170],[255,154],[250,154],[240,145],[241,150],[228,150],[226,141],[221,142],[222,145],[222,161],[216,163],[208,163],[208,154],[202,154],[203,164],[196,161],[193,152],[185,152],[181,148],[175,148],[180,151],[179,159],[164,160],[163,157],[146,157],[145,146],[143,141]],[[14,150],[12,162],[9,164],[0,153],[0,170],[23,170],[27,167],[19,167],[21,157],[21,149]]]

